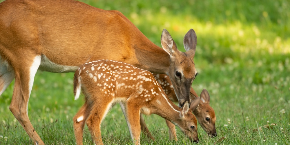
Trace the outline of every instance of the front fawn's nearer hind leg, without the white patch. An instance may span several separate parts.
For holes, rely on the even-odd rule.
[[[91,111],[88,115],[88,119],[86,121],[90,134],[94,140],[95,144],[103,144],[102,136],[101,136],[101,123],[105,118],[106,114],[110,110],[113,99],[108,97],[107,99],[98,99],[95,96],[90,96],[90,98],[94,98],[95,100],[90,104]]]

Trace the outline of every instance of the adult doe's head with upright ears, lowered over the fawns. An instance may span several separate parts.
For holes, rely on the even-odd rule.
[[[180,108],[183,107],[186,101],[190,102],[190,87],[197,74],[193,61],[196,44],[197,38],[193,29],[190,29],[183,39],[186,52],[181,52],[177,49],[175,42],[166,29],[162,31],[161,45],[170,55],[171,61],[167,75],[169,75],[173,84]]]

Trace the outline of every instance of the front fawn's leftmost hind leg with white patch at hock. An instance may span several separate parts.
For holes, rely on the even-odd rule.
[[[85,102],[85,104],[81,106],[81,109],[79,109],[79,112],[73,117],[73,128],[77,145],[83,144],[84,126],[89,113],[87,102]]]

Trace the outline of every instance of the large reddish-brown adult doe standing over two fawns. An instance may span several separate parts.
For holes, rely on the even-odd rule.
[[[193,29],[184,37],[186,52],[163,30],[164,51],[115,10],[74,0],[6,0],[0,3],[0,30],[0,94],[15,78],[10,110],[35,144],[44,142],[28,118],[27,106],[37,70],[75,72],[90,60],[123,61],[168,74],[179,106],[190,101],[197,73]]]

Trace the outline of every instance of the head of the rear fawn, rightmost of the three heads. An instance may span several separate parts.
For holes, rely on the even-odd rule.
[[[206,89],[203,89],[200,94],[200,104],[193,110],[193,114],[197,118],[202,129],[211,137],[216,137],[217,132],[215,130],[215,111],[209,106],[209,93]]]

